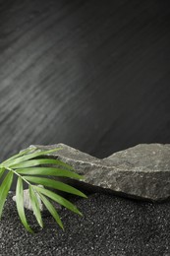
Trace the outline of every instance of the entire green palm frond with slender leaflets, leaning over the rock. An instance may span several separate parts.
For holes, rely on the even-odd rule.
[[[18,178],[16,185],[17,210],[22,224],[24,224],[29,232],[32,233],[33,230],[29,226],[25,214],[24,183],[28,184],[28,193],[33,213],[37,223],[41,227],[43,227],[43,223],[38,201],[39,198],[62,229],[64,229],[64,226],[56,209],[50,202],[51,200],[82,216],[82,213],[70,201],[47,189],[49,187],[86,198],[85,194],[78,189],[61,181],[49,178],[50,176],[61,176],[73,179],[84,179],[84,177],[76,173],[73,167],[69,164],[62,162],[61,160],[45,158],[50,153],[58,150],[61,150],[61,148],[50,151],[36,151],[36,149],[28,149],[0,164],[0,178],[5,176],[0,185],[0,219],[15,175]],[[5,170],[7,170],[6,175]],[[44,187],[40,187],[38,185],[42,185]]]

